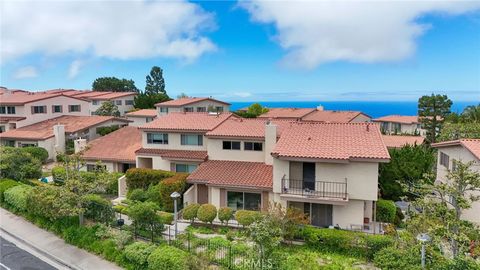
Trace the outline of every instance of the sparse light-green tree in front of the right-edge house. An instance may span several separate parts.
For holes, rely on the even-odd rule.
[[[472,236],[479,234],[478,226],[461,217],[464,210],[480,200],[480,196],[475,195],[480,191],[480,173],[472,170],[473,162],[453,162],[455,169],[448,171],[445,182],[434,185],[428,181],[417,187],[421,197],[416,204],[422,212],[410,223],[416,227],[420,225],[423,232],[429,232],[440,241],[446,240],[456,257],[466,252]]]

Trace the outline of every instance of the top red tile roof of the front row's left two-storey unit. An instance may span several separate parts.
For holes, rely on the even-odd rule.
[[[231,116],[231,113],[169,113],[165,116],[157,117],[140,128],[146,130],[206,132],[214,129]]]

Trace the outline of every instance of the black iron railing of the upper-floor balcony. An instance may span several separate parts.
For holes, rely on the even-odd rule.
[[[347,179],[342,182],[328,182],[282,178],[282,193],[347,200]]]

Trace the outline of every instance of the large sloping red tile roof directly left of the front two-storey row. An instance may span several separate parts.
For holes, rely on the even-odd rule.
[[[126,126],[88,144],[83,152],[85,160],[135,163],[135,151],[142,147],[142,132]]]

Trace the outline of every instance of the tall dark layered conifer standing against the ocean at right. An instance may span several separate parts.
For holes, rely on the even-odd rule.
[[[450,114],[452,101],[446,95],[422,96],[418,99],[418,116],[427,131],[427,141],[434,143]]]

